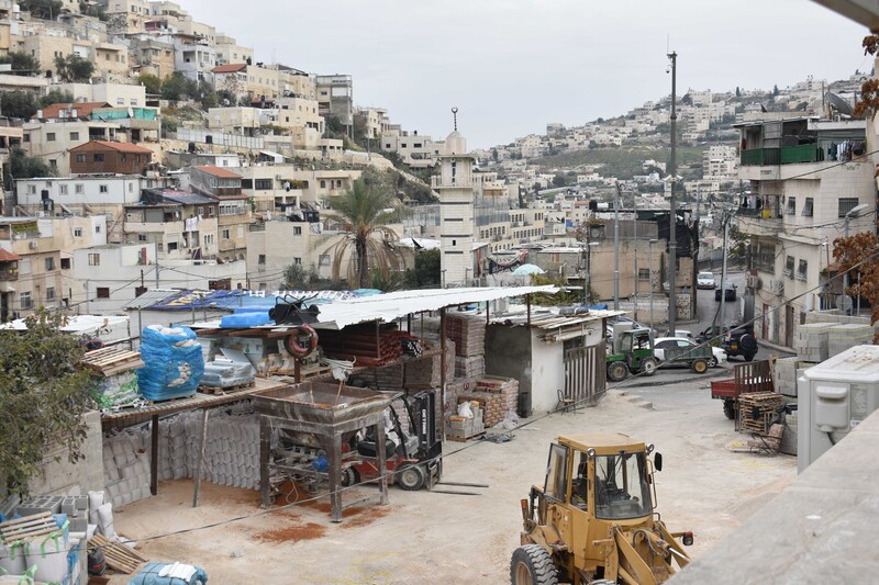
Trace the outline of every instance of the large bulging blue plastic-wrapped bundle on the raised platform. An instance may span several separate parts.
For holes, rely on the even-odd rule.
[[[191,396],[204,373],[204,358],[196,333],[189,327],[149,325],[141,335],[137,385],[148,401]]]

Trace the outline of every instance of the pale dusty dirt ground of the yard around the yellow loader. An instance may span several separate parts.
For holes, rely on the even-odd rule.
[[[633,394],[654,408],[638,406]],[[192,482],[175,481],[159,484],[158,496],[116,510],[115,528],[144,540],[138,548],[148,559],[197,564],[218,584],[509,583],[522,526],[519,500],[543,482],[550,440],[576,432],[623,432],[656,445],[664,457],[657,509],[671,530],[696,533],[694,558],[795,476],[795,458],[727,451],[746,437],[733,430],[704,383],[692,382],[612,391],[598,406],[536,420],[507,443],[446,443],[444,480],[489,487],[442,487],[478,495],[391,487],[388,506],[348,510],[333,524],[327,498],[264,514],[257,492],[202,483],[201,505],[192,508]],[[375,490],[358,486],[345,498]],[[227,521],[241,517],[248,518]]]

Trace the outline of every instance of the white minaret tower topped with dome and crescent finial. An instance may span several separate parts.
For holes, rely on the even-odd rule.
[[[474,254],[472,168],[475,157],[467,154],[467,140],[458,133],[458,109],[452,109],[454,131],[446,137],[438,157],[439,176],[433,188],[439,194],[439,257],[444,286],[463,285],[476,277]]]

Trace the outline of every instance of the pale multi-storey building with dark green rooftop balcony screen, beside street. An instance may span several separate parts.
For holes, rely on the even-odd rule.
[[[802,314],[832,308],[842,295],[841,279],[828,280],[834,239],[846,224],[850,234],[875,230],[876,166],[865,156],[863,120],[772,117],[738,125],[738,178],[750,181],[750,192],[737,216],[750,236],[755,331],[792,347]],[[861,204],[867,211],[846,221]]]

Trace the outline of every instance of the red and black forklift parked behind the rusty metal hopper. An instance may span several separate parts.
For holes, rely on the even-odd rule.
[[[409,421],[409,432],[403,432],[397,410],[390,406],[391,426],[400,439],[394,445],[386,442],[388,453],[388,482],[402,490],[432,490],[443,475],[443,440],[436,425],[436,393],[419,392],[412,396],[399,393],[393,403],[401,401]],[[393,404],[392,403],[392,404]],[[342,485],[348,486],[379,477],[375,437],[354,439],[343,455]]]

